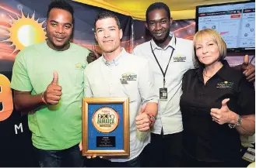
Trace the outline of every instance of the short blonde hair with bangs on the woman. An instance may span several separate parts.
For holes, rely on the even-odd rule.
[[[214,29],[202,29],[202,30],[198,31],[197,33],[195,33],[195,36],[193,39],[195,60],[198,61],[198,57],[196,56],[196,53],[195,53],[195,43],[198,40],[201,40],[205,36],[209,36],[210,38],[212,38],[212,41],[214,43],[216,43],[216,45],[218,46],[218,50],[219,50],[219,59],[218,60],[223,60],[226,57],[226,43],[223,40],[223,38],[219,35],[219,33],[216,32],[216,30],[214,30]]]

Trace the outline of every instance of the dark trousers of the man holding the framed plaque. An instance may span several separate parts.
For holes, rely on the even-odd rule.
[[[127,162],[111,162],[108,159],[100,159],[96,157],[89,160],[89,165],[91,167],[140,167],[141,166],[141,156],[139,155],[135,159],[131,159]]]

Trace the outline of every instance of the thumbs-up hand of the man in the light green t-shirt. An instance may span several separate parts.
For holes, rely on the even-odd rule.
[[[44,100],[48,105],[57,105],[58,101],[61,99],[61,86],[58,85],[58,73],[54,71],[54,78],[51,84],[47,86],[46,91],[44,91]]]

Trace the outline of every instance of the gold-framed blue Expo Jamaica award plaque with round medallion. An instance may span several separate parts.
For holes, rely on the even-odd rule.
[[[82,155],[129,156],[128,98],[82,99]]]

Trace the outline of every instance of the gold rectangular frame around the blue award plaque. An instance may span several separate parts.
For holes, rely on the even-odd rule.
[[[89,105],[95,104],[121,104],[123,107],[123,148],[122,149],[89,149]],[[106,134],[103,134],[106,135]],[[82,98],[82,156],[130,156],[130,122],[128,98]]]

